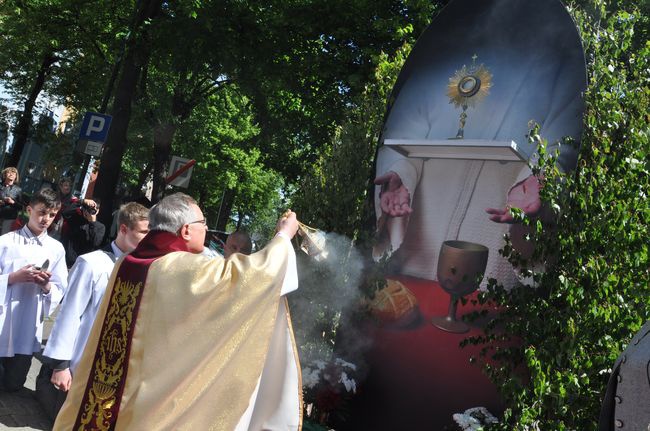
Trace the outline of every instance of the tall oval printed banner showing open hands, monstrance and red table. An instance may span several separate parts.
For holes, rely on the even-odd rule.
[[[472,352],[458,346],[480,328],[459,334],[432,318],[448,311],[441,285],[471,292],[455,278],[463,271],[478,288],[488,278],[523,282],[498,250],[504,234],[517,234],[509,207],[540,209],[539,179],[528,167],[537,149],[527,134],[538,124],[549,150],[559,150],[560,168],[572,169],[585,87],[581,41],[557,0],[454,0],[422,34],[393,89],[377,156],[374,250],[390,255],[421,318],[373,333],[376,390],[364,397],[381,408],[358,406],[365,419],[351,426],[438,430],[453,413],[499,409],[495,389],[469,363]],[[574,143],[560,145],[567,137]],[[442,256],[445,241],[454,250]]]

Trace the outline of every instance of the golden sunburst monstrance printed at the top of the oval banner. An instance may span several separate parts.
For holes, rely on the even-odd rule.
[[[476,65],[477,58],[478,56],[474,54],[470,67],[463,65],[454,73],[454,76],[449,78],[449,85],[447,86],[449,103],[453,103],[456,108],[463,109],[460,114],[458,133],[456,133],[455,138],[451,139],[463,139],[465,121],[467,121],[467,108],[473,108],[485,96],[490,94],[492,74],[482,63]]]

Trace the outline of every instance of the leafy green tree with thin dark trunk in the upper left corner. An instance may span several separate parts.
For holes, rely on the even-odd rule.
[[[112,44],[117,41],[115,34],[120,34],[126,3],[0,3],[0,80],[23,105],[14,128],[10,164],[18,164],[43,91],[78,107],[99,104],[102,78],[110,71]]]

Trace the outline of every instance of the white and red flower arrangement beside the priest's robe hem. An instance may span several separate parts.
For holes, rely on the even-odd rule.
[[[346,404],[357,392],[356,371],[356,365],[341,358],[316,360],[305,366],[302,384],[306,418],[320,424],[344,419]]]

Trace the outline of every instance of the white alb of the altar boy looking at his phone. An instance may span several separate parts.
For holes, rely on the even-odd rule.
[[[50,292],[36,283],[9,284],[9,274],[25,265],[49,260]],[[59,304],[67,286],[68,268],[61,243],[27,226],[0,236],[0,357],[31,355],[41,350],[43,320]]]

